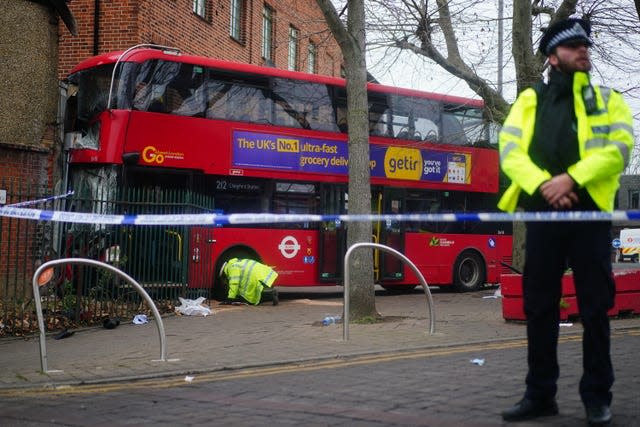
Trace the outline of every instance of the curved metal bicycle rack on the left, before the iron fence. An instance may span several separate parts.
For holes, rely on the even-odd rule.
[[[38,277],[49,267],[53,267],[60,264],[83,264],[90,265],[94,267],[102,267],[105,268],[112,273],[117,274],[127,282],[129,282],[137,291],[140,293],[142,298],[147,302],[151,311],[153,312],[153,317],[156,319],[156,324],[158,325],[158,335],[160,337],[160,361],[167,361],[167,340],[166,335],[164,333],[164,324],[162,323],[162,318],[160,317],[160,313],[158,312],[158,308],[153,303],[153,300],[144,290],[142,286],[138,282],[136,282],[131,276],[127,273],[115,268],[112,265],[105,264],[104,262],[96,261],[93,259],[86,258],[61,258],[55,259],[52,261],[47,261],[42,264],[35,273],[33,273],[33,298],[36,302],[36,314],[38,315],[38,328],[40,329],[40,366],[42,367],[42,372],[60,372],[57,370],[48,370],[47,369],[47,348],[45,343],[45,328],[44,328],[44,317],[42,315],[42,301],[40,301],[40,286],[38,285]]]

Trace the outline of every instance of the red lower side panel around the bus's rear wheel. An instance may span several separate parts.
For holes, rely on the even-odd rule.
[[[407,233],[405,255],[418,267],[429,285],[453,284],[453,266],[464,250],[479,252],[486,262],[487,282],[500,280],[502,266],[511,257],[511,236],[487,234]],[[405,267],[405,281],[419,283]]]

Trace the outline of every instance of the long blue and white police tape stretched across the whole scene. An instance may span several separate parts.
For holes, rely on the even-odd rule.
[[[553,212],[499,212],[395,214],[395,215],[298,215],[270,213],[242,214],[177,214],[177,215],[110,215],[83,212],[48,211],[40,209],[0,207],[0,216],[36,221],[68,222],[76,224],[121,225],[228,225],[228,224],[282,224],[301,222],[557,222],[557,221],[637,221],[640,211],[553,211]]]

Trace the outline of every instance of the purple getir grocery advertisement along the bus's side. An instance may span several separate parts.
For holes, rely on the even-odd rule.
[[[348,174],[344,141],[233,132],[233,167]],[[411,181],[470,184],[471,154],[372,145],[371,176]]]

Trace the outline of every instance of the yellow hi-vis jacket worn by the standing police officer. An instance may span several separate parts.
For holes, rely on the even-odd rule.
[[[629,163],[633,149],[631,111],[622,95],[607,87],[594,86],[598,110],[587,115],[582,88],[589,85],[589,75],[574,73],[573,99],[577,118],[580,160],[567,172],[603,211],[611,212],[618,189],[618,178]],[[511,185],[498,207],[513,212],[520,192],[533,194],[551,178],[529,157],[529,145],[536,121],[537,96],[534,89],[524,90],[511,107],[499,136],[500,165]]]

